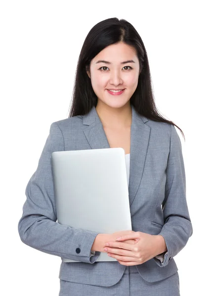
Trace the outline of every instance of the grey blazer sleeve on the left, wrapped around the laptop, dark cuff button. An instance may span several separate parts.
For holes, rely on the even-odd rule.
[[[65,259],[94,263],[100,252],[96,251],[91,256],[91,247],[98,233],[56,222],[51,153],[64,149],[62,131],[53,122],[37,170],[25,190],[26,201],[18,222],[18,232],[23,243],[39,251]]]

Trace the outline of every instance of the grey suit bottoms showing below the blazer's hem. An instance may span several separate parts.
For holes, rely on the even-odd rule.
[[[107,270],[106,270],[107,272]],[[118,283],[110,287],[86,285],[60,279],[59,296],[180,296],[178,272],[154,283],[146,282],[136,266],[126,266]]]

